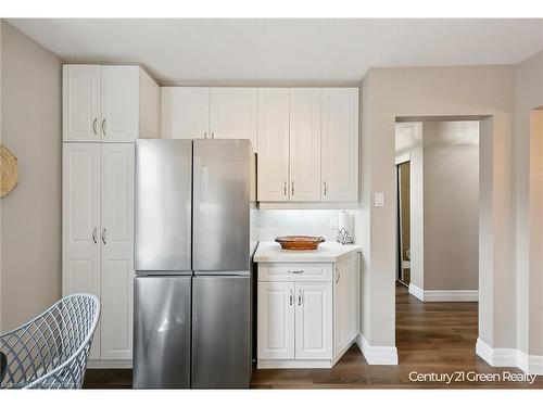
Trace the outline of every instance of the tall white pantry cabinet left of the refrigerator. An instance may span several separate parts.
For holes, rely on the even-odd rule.
[[[63,67],[63,295],[101,301],[90,367],[132,358],[138,138],[160,137],[160,88],[139,66]]]

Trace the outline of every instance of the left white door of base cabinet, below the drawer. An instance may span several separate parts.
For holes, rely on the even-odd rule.
[[[294,283],[258,282],[258,359],[294,358]]]

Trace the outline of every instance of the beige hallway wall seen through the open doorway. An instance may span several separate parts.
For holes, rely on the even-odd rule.
[[[479,123],[425,122],[425,290],[477,290]]]

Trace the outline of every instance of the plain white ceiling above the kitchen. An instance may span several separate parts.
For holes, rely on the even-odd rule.
[[[141,63],[163,85],[354,82],[368,68],[516,64],[543,20],[9,20],[67,62]]]

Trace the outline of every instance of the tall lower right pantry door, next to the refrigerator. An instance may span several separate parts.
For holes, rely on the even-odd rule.
[[[131,359],[134,143],[102,144],[102,359]]]

